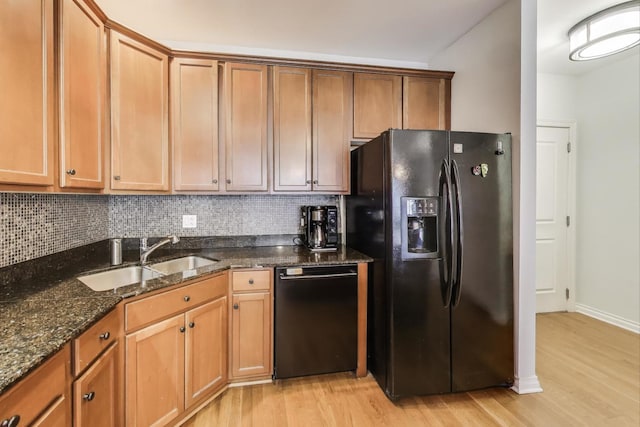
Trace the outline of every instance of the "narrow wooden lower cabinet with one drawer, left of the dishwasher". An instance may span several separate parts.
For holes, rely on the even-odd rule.
[[[230,380],[271,377],[272,276],[272,269],[231,272]]]

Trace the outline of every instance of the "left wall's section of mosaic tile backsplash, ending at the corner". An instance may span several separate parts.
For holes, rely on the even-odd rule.
[[[0,267],[108,238],[105,196],[0,193]]]

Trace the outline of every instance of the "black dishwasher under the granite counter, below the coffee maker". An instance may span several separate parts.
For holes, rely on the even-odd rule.
[[[274,378],[356,369],[357,271],[355,265],[276,268]]]

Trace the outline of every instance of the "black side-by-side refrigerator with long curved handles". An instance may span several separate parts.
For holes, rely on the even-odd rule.
[[[391,399],[513,382],[511,135],[394,130],[351,153],[368,368]]]

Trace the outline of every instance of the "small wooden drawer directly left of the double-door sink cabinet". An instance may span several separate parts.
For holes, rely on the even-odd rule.
[[[122,336],[122,310],[116,307],[73,340],[73,376],[84,371],[111,343]]]

